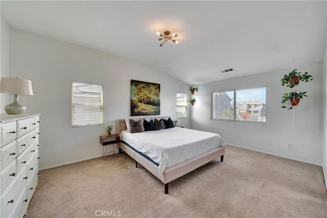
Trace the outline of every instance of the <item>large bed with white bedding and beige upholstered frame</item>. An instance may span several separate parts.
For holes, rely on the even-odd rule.
[[[181,130],[183,128],[175,127],[171,128],[171,130],[158,130],[158,131],[149,131],[149,132],[144,132],[142,134],[139,133],[127,133],[126,131],[126,123],[125,119],[118,119],[117,120],[117,134],[120,134],[121,136],[121,141],[119,144],[120,151],[123,150],[126,154],[128,154],[130,157],[132,157],[135,160],[135,166],[137,167],[137,164],[141,164],[144,168],[146,168],[150,173],[152,173],[155,177],[157,177],[162,183],[165,184],[165,194],[168,194],[168,189],[169,189],[169,182],[193,171],[194,169],[220,157],[221,162],[223,162],[224,159],[224,154],[225,154],[225,144],[221,137],[218,134],[215,133],[208,133],[208,132],[201,132],[201,131],[196,131],[194,134],[199,134],[202,133],[201,136],[203,137],[202,140],[207,140],[205,143],[201,142],[199,140],[196,140],[197,142],[193,142],[191,139],[186,141],[185,144],[179,143],[180,141],[185,141],[186,138],[189,138],[188,136],[180,136],[183,134],[183,132],[189,132],[193,130],[185,129]],[[174,134],[172,131],[176,131],[177,135],[179,135],[181,140],[177,140],[177,138],[174,138]],[[144,148],[144,145],[146,143],[149,143],[150,141],[152,142],[152,139],[154,139],[154,134],[160,132],[161,135],[160,138],[171,138],[168,139],[167,141],[167,146],[165,147],[165,152],[164,154],[157,152],[158,154],[154,153],[154,156],[151,155],[151,151],[148,152],[149,148],[155,148],[160,147],[160,144],[155,144],[152,143],[150,147]],[[148,137],[146,134],[149,134]],[[165,136],[165,134],[168,134],[169,137]],[[218,137],[218,139],[205,139],[205,136],[215,136],[215,138]],[[133,138],[135,136],[135,138]],[[137,136],[137,137],[136,137]],[[176,136],[177,137],[177,136]],[[148,138],[148,139],[147,139]],[[140,141],[138,142],[137,146],[137,140]],[[173,146],[172,143],[176,142],[177,150]],[[218,142],[217,142],[218,140]],[[220,142],[219,142],[220,141]],[[146,143],[144,143],[146,142]],[[159,142],[157,142],[159,143]],[[162,142],[163,143],[163,142]],[[163,145],[161,143],[161,146]],[[166,142],[165,142],[166,143]],[[199,152],[198,154],[193,154],[191,155],[182,155],[183,157],[181,160],[174,160],[174,158],[171,158],[174,156],[174,154],[177,152],[182,153],[182,154],[189,154],[190,147],[196,147],[194,143],[202,143],[202,144],[208,144],[206,150],[201,150],[197,151]],[[140,145],[141,144],[141,145]],[[187,149],[186,151],[188,152],[181,152],[182,148],[181,146],[185,147],[183,149]],[[202,146],[201,146],[202,147]],[[141,149],[140,149],[141,148]],[[138,150],[137,150],[138,149]],[[140,152],[140,151],[142,152]],[[157,151],[157,150],[155,150]],[[170,151],[170,153],[168,152]],[[185,150],[184,150],[185,151]],[[167,153],[167,155],[166,155]],[[192,153],[192,152],[191,152]],[[157,158],[157,157],[161,157]],[[168,156],[168,157],[167,157]],[[171,158],[172,160],[170,160]],[[155,160],[155,161],[154,161]]]

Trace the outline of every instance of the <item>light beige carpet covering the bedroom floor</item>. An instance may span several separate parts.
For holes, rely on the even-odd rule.
[[[28,217],[327,217],[319,166],[228,146],[164,184],[127,154],[41,171]],[[108,213],[107,213],[108,211]]]

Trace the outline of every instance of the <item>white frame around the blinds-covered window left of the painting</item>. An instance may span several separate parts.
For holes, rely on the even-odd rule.
[[[101,107],[101,116],[100,116],[100,120],[102,119],[102,123],[88,123],[85,125],[75,125],[73,124],[73,120],[74,120],[74,113],[73,113],[73,108],[75,107],[74,102],[73,102],[73,84],[88,84],[88,85],[97,85],[97,86],[102,86],[102,99],[101,99],[101,103],[100,107]],[[91,83],[91,82],[81,82],[81,81],[71,81],[71,125],[72,128],[78,128],[78,127],[92,127],[92,126],[103,126],[104,125],[104,85],[101,83]]]

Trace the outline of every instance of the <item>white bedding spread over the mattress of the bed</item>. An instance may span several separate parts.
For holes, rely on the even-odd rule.
[[[179,127],[139,133],[124,130],[120,136],[121,140],[158,163],[160,175],[166,167],[225,147],[225,142],[216,133]]]

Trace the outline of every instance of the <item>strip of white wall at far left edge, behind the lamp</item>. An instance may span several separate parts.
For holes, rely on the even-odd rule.
[[[9,77],[9,27],[6,20],[1,17],[1,71],[0,77]],[[9,104],[9,95],[0,94],[0,113],[5,112],[5,106]]]

